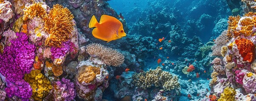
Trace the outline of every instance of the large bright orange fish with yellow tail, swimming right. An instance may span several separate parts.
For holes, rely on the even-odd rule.
[[[93,15],[89,23],[89,28],[93,27],[95,27],[92,32],[93,36],[97,39],[107,41],[107,43],[126,36],[121,21],[112,16],[102,15],[98,22]]]

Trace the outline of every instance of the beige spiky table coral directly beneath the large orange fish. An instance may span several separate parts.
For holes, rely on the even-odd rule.
[[[124,55],[122,53],[98,43],[87,45],[86,51],[91,57],[99,58],[107,65],[120,66],[124,63]]]

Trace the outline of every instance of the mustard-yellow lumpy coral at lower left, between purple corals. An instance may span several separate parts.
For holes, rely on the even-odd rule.
[[[32,90],[32,97],[36,101],[42,101],[49,91],[53,88],[48,78],[41,73],[40,70],[32,70],[29,74],[25,74],[24,80],[29,83]]]

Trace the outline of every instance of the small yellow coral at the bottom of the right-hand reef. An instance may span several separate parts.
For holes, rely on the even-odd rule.
[[[231,87],[226,87],[223,93],[220,94],[218,101],[235,101],[236,90]]]

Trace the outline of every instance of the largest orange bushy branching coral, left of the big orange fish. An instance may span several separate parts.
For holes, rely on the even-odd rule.
[[[74,26],[73,18],[68,8],[59,4],[53,5],[49,14],[44,17],[44,30],[50,34],[45,40],[45,45],[60,47],[62,42],[70,39]]]

